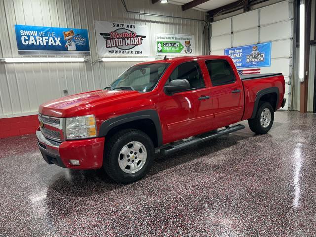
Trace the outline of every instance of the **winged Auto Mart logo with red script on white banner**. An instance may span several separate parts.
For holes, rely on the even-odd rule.
[[[136,32],[126,28],[118,28],[109,33],[100,33],[105,39],[105,46],[107,48],[118,48],[128,50],[141,45],[146,36],[137,35]]]

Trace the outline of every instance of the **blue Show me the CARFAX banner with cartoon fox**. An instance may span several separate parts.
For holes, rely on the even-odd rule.
[[[15,25],[19,54],[90,55],[87,29]]]

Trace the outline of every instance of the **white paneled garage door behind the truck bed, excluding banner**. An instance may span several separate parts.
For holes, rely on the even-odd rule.
[[[210,54],[224,55],[225,48],[272,43],[271,66],[261,73],[283,73],[288,108],[293,55],[293,2],[283,1],[211,23]]]

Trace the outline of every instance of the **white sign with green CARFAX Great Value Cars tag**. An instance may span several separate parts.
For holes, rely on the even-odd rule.
[[[156,54],[194,55],[193,35],[155,34]]]

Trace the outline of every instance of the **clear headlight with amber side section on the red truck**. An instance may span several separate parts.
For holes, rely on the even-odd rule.
[[[94,115],[66,118],[66,139],[90,138],[97,136]]]

